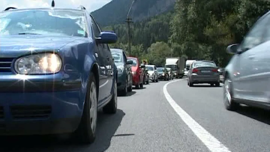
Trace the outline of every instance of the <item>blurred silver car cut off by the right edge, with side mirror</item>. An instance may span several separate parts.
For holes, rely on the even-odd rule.
[[[224,104],[237,110],[240,103],[270,108],[270,11],[263,15],[241,44],[228,46],[234,54],[224,69]]]

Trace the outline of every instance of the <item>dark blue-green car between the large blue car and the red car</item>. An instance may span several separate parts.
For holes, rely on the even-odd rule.
[[[113,55],[114,63],[117,66],[117,90],[122,96],[126,96],[127,92],[132,91],[132,60],[127,60],[124,50],[112,48],[110,49]]]

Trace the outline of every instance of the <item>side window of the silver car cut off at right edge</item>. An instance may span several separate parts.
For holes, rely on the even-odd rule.
[[[261,44],[262,36],[266,29],[266,24],[268,23],[269,18],[265,16],[264,18],[260,19],[253,28],[248,32],[245,36],[244,40],[240,45],[241,50],[249,50],[254,48],[255,46]]]

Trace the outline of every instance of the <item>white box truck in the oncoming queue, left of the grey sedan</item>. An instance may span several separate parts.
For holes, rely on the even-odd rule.
[[[174,77],[182,78],[184,76],[185,58],[184,57],[166,58],[165,67],[171,68]]]

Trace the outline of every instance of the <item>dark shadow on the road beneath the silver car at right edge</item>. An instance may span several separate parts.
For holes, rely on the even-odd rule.
[[[236,111],[239,114],[250,117],[270,125],[270,111],[249,106],[240,106]]]

